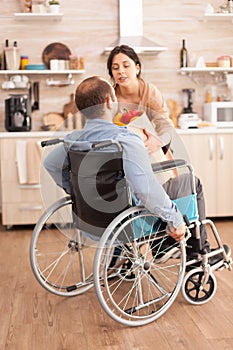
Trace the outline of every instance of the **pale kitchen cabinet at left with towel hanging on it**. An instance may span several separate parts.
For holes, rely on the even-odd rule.
[[[13,137],[15,134],[18,134],[17,137]],[[20,136],[20,134],[26,136],[26,138]],[[46,135],[46,133],[41,134]],[[9,137],[5,135],[9,135]],[[35,224],[45,208],[55,200],[63,197],[65,193],[56,186],[41,166],[41,163],[38,164],[38,157],[33,157],[32,164],[25,164],[26,167],[36,167],[40,170],[38,182],[21,183],[19,179],[19,160],[16,154],[17,142],[34,142],[36,147],[39,147],[42,139],[54,138],[56,136],[53,133],[50,137],[33,137],[33,132],[5,133],[5,135],[4,138],[0,138],[2,224],[7,228],[13,225]],[[42,153],[39,162],[42,162],[46,152],[50,150],[50,147],[45,150],[41,149]]]

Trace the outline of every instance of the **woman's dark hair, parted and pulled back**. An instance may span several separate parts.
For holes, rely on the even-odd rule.
[[[139,74],[137,75],[138,78],[140,77],[140,73],[141,73],[141,61],[138,57],[138,55],[136,54],[136,52],[134,51],[134,49],[132,49],[132,47],[128,46],[128,45],[121,45],[121,46],[115,46],[112,51],[110,52],[109,56],[108,56],[108,60],[107,60],[107,68],[108,68],[108,74],[110,75],[111,78],[113,78],[113,74],[112,74],[112,61],[113,58],[118,55],[119,53],[123,53],[124,55],[128,56],[129,58],[131,58],[131,60],[134,61],[135,65],[139,65],[140,67],[140,71]]]

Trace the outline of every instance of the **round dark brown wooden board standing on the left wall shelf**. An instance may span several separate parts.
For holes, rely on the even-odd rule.
[[[42,61],[50,69],[50,60],[69,60],[70,49],[62,43],[52,43],[46,46],[42,53]]]

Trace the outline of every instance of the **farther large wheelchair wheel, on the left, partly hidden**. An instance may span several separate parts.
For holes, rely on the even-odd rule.
[[[32,271],[43,288],[60,296],[75,296],[93,286],[96,244],[75,228],[72,201],[54,203],[36,224],[31,244]]]

